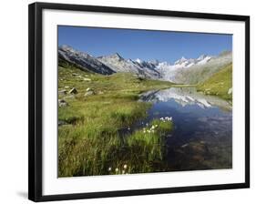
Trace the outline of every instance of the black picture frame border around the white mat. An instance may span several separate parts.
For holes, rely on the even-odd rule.
[[[189,186],[162,189],[133,189],[119,191],[90,192],[64,195],[42,195],[42,12],[44,9],[68,11],[91,11],[128,15],[159,15],[198,19],[215,19],[241,21],[245,23],[245,182],[221,185]],[[167,10],[149,10],[125,7],[108,7],[94,5],[67,5],[34,3],[29,5],[29,76],[28,76],[28,199],[33,201],[49,201],[64,199],[92,199],[105,197],[134,196],[147,194],[175,193],[188,191],[243,189],[250,188],[250,16],[219,15]]]

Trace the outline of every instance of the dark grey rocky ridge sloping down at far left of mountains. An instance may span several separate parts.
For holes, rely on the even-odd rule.
[[[77,51],[71,46],[59,46],[58,56],[60,59],[65,59],[69,63],[80,66],[82,69],[90,70],[98,74],[111,75],[115,73],[115,71],[98,61],[94,56]]]

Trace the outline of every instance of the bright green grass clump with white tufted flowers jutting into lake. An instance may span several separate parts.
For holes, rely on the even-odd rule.
[[[130,158],[127,161],[130,172],[162,171],[166,154],[166,134],[173,129],[171,121],[154,119],[148,127],[135,131],[125,141]]]

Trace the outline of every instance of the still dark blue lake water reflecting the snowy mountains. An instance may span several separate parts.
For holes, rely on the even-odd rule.
[[[154,118],[172,117],[174,130],[167,135],[165,171],[232,167],[232,106],[219,97],[205,96],[193,87],[149,91],[140,101],[151,102],[148,117],[132,129],[145,127]]]

